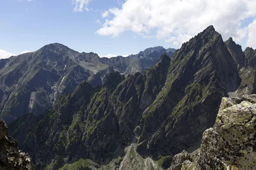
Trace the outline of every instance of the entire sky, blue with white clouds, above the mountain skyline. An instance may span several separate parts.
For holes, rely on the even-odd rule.
[[[0,50],[17,55],[59,42],[101,56],[135,54],[179,48],[209,25],[256,48],[255,8],[254,0],[1,0]]]

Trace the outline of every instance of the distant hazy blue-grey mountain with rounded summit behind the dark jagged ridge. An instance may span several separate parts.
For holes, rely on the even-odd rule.
[[[102,85],[110,72],[142,73],[167,53],[164,48],[150,49],[132,58],[108,59],[54,43],[34,52],[1,59],[0,117],[11,122],[25,113],[47,113],[61,94],[71,94],[82,81]],[[173,52],[167,54],[171,56]]]

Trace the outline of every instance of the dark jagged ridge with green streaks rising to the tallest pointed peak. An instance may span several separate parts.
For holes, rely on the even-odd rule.
[[[168,156],[200,147],[202,134],[215,124],[222,97],[253,93],[254,78],[247,81],[246,72],[255,69],[248,64],[254,57],[253,50],[241,51],[232,39],[224,42],[209,26],[143,74],[106,73],[101,86],[81,82],[72,94],[58,97],[46,115],[26,114],[9,124],[10,131],[38,168],[55,170],[80,159],[99,167],[118,158],[135,164],[125,157],[131,153],[125,148],[132,145],[140,155],[139,167],[147,169],[147,161],[156,167],[152,161],[158,161],[158,168],[167,169]],[[114,71],[126,65],[122,57],[102,60],[122,63],[113,65]],[[183,164],[180,157],[174,158],[174,168],[190,168],[192,159],[185,154]]]

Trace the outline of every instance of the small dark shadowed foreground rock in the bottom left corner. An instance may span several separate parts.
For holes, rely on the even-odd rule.
[[[19,150],[17,142],[9,136],[3,119],[0,119],[0,170],[35,170],[30,156]]]

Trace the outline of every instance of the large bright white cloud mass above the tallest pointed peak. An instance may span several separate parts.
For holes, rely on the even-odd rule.
[[[133,31],[180,45],[213,25],[224,40],[241,42],[248,31],[241,23],[256,17],[255,9],[256,0],[127,0],[102,13],[106,20],[96,33],[115,37]]]

